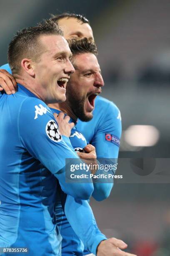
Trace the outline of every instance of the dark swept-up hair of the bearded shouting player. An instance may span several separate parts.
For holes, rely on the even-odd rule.
[[[77,54],[92,53],[97,56],[97,46],[92,39],[82,38],[82,39],[69,39],[67,40],[72,56]]]

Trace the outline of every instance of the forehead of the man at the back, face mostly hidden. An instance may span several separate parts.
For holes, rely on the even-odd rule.
[[[59,26],[64,32],[64,37],[70,38],[72,34],[82,33],[82,37],[93,38],[92,28],[88,23],[82,23],[76,18],[62,18],[58,21]]]

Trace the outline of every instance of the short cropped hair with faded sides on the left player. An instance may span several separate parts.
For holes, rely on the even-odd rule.
[[[52,19],[43,20],[35,27],[24,28],[18,31],[8,47],[8,63],[13,74],[20,72],[23,58],[38,61],[44,47],[38,40],[41,35],[60,35],[63,31]]]

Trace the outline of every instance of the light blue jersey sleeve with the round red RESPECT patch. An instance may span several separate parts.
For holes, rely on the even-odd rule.
[[[90,142],[95,146],[97,158],[117,159],[122,132],[120,110],[112,102],[108,102],[105,118],[100,120],[95,136]],[[94,183],[92,196],[97,201],[104,200],[110,195],[113,183]]]

